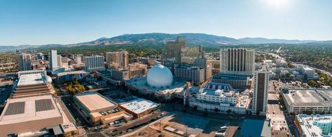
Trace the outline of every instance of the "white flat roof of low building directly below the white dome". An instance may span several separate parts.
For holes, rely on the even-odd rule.
[[[132,101],[123,103],[121,106],[127,110],[130,110],[131,112],[134,112],[135,114],[140,114],[148,109],[157,107],[158,104],[154,103],[153,101],[137,98]]]

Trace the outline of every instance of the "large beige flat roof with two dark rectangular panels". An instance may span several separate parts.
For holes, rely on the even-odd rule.
[[[52,95],[8,99],[0,116],[0,126],[61,116]]]

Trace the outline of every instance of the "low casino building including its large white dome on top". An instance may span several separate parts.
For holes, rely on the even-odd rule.
[[[157,64],[148,71],[146,77],[133,77],[125,82],[129,90],[149,95],[159,99],[172,99],[175,94],[182,95],[186,79],[173,77],[172,72],[166,66]]]

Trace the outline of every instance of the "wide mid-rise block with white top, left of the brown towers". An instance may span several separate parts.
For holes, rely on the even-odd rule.
[[[91,55],[85,57],[85,70],[87,71],[98,71],[104,70],[104,56],[102,55]]]

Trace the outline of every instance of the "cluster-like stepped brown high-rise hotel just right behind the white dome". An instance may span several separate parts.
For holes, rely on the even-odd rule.
[[[202,46],[186,46],[184,36],[178,36],[175,42],[167,42],[162,64],[167,66],[175,77],[185,78],[195,85],[212,77],[212,69]]]

